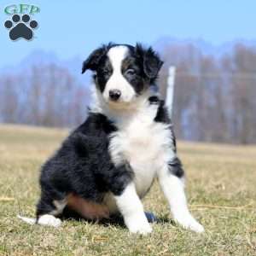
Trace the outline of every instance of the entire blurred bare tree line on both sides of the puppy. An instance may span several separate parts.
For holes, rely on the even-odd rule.
[[[167,44],[160,54],[162,96],[168,67],[177,70],[172,119],[178,138],[256,143],[256,48],[238,44],[214,56],[192,44]],[[56,64],[0,77],[3,123],[74,127],[85,119],[89,102],[89,84]]]

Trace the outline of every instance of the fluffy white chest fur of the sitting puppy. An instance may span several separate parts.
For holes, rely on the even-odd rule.
[[[116,166],[128,162],[134,172],[137,194],[143,197],[158,169],[172,158],[172,133],[154,121],[157,105],[149,105],[117,119],[118,131],[110,138],[109,151]]]

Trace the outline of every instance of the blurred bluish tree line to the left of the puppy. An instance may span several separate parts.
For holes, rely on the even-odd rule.
[[[64,67],[33,65],[0,78],[0,121],[73,127],[86,117],[90,94]]]

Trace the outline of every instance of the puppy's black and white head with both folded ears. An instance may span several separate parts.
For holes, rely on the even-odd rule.
[[[84,61],[82,73],[95,72],[94,79],[103,100],[112,106],[129,105],[143,95],[163,62],[152,48],[108,44],[93,51]]]

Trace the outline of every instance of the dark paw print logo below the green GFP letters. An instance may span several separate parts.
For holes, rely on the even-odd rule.
[[[20,19],[21,18],[21,19]],[[30,20],[29,15],[13,15],[11,20],[6,20],[4,26],[9,29],[9,38],[15,41],[18,38],[31,40],[33,30],[38,27],[38,21]]]

